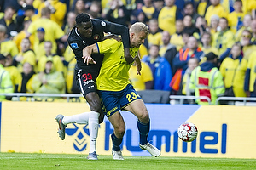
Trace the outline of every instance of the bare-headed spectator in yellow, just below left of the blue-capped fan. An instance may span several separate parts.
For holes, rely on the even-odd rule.
[[[36,55],[30,47],[31,42],[29,41],[29,38],[24,38],[21,41],[21,52],[14,58],[14,65],[17,66],[20,73],[22,72],[22,67],[25,62],[29,62],[36,67]]]

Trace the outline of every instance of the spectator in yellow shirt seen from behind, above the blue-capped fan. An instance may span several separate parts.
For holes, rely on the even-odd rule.
[[[27,37],[34,35],[34,43],[38,44],[39,40],[37,37],[38,28],[44,28],[44,40],[50,41],[53,44],[54,53],[57,52],[57,43],[56,40],[61,42],[67,42],[67,35],[64,34],[64,31],[61,30],[61,26],[56,24],[55,21],[50,20],[51,11],[49,8],[42,8],[41,17],[38,20],[32,21],[31,25],[27,29]]]

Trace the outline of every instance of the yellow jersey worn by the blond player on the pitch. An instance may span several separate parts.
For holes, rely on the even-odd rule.
[[[123,90],[129,81],[129,69],[124,57],[124,47],[122,42],[114,39],[107,39],[96,42],[99,53],[105,54],[102,61],[101,71],[96,79],[98,90],[120,91]],[[131,48],[130,54],[136,57],[139,48]]]

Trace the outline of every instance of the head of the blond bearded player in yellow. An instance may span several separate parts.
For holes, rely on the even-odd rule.
[[[131,48],[139,48],[144,40],[148,37],[149,30],[148,26],[143,24],[143,22],[136,22],[131,25],[130,28],[130,40]]]

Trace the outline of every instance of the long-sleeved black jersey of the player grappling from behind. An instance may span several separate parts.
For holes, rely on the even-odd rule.
[[[77,27],[74,26],[67,38],[67,42],[69,46],[73,49],[73,53],[76,56],[76,69],[99,72],[102,65],[103,54],[92,54],[91,57],[96,61],[96,65],[86,65],[84,63],[84,59],[82,58],[83,49],[88,45],[102,41],[102,37],[104,37],[104,32],[112,32],[114,34],[121,35],[125,48],[129,48],[130,38],[128,28],[125,26],[97,19],[91,19],[91,22],[93,29],[92,36],[90,38],[79,35]]]

